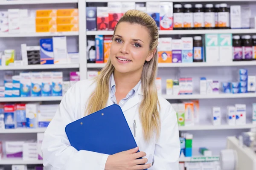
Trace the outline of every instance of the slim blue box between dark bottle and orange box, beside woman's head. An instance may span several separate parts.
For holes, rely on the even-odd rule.
[[[104,62],[103,35],[95,36],[96,63]]]

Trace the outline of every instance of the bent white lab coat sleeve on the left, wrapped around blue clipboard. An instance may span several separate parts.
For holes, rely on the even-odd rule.
[[[79,116],[79,89],[73,85],[62,99],[58,111],[44,133],[43,163],[47,170],[105,170],[109,155],[70,146],[65,127]]]

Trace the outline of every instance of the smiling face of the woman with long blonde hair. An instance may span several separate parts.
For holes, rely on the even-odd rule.
[[[142,72],[145,61],[154,52],[149,49],[148,30],[139,24],[119,23],[110,48],[110,59],[115,71],[120,73]]]

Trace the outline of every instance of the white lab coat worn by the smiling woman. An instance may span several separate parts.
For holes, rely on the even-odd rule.
[[[92,80],[77,82],[62,99],[58,111],[44,133],[42,152],[44,166],[47,170],[104,170],[109,155],[94,153],[86,150],[77,151],[70,146],[65,133],[67,124],[84,117],[85,103],[95,89]],[[110,96],[110,95],[109,95]],[[158,141],[143,139],[143,129],[140,123],[138,108],[142,99],[141,87],[136,94],[122,106],[122,111],[134,134],[134,119],[137,120],[137,136],[135,141],[144,151],[148,163],[152,163],[149,170],[179,170],[178,159],[180,141],[177,117],[174,109],[166,99],[159,96],[161,133]],[[108,106],[113,105],[110,97]],[[155,135],[154,135],[155,136]]]

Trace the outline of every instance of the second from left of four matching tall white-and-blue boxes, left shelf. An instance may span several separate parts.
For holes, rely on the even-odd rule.
[[[31,96],[41,96],[42,95],[42,73],[32,72],[31,73]]]

